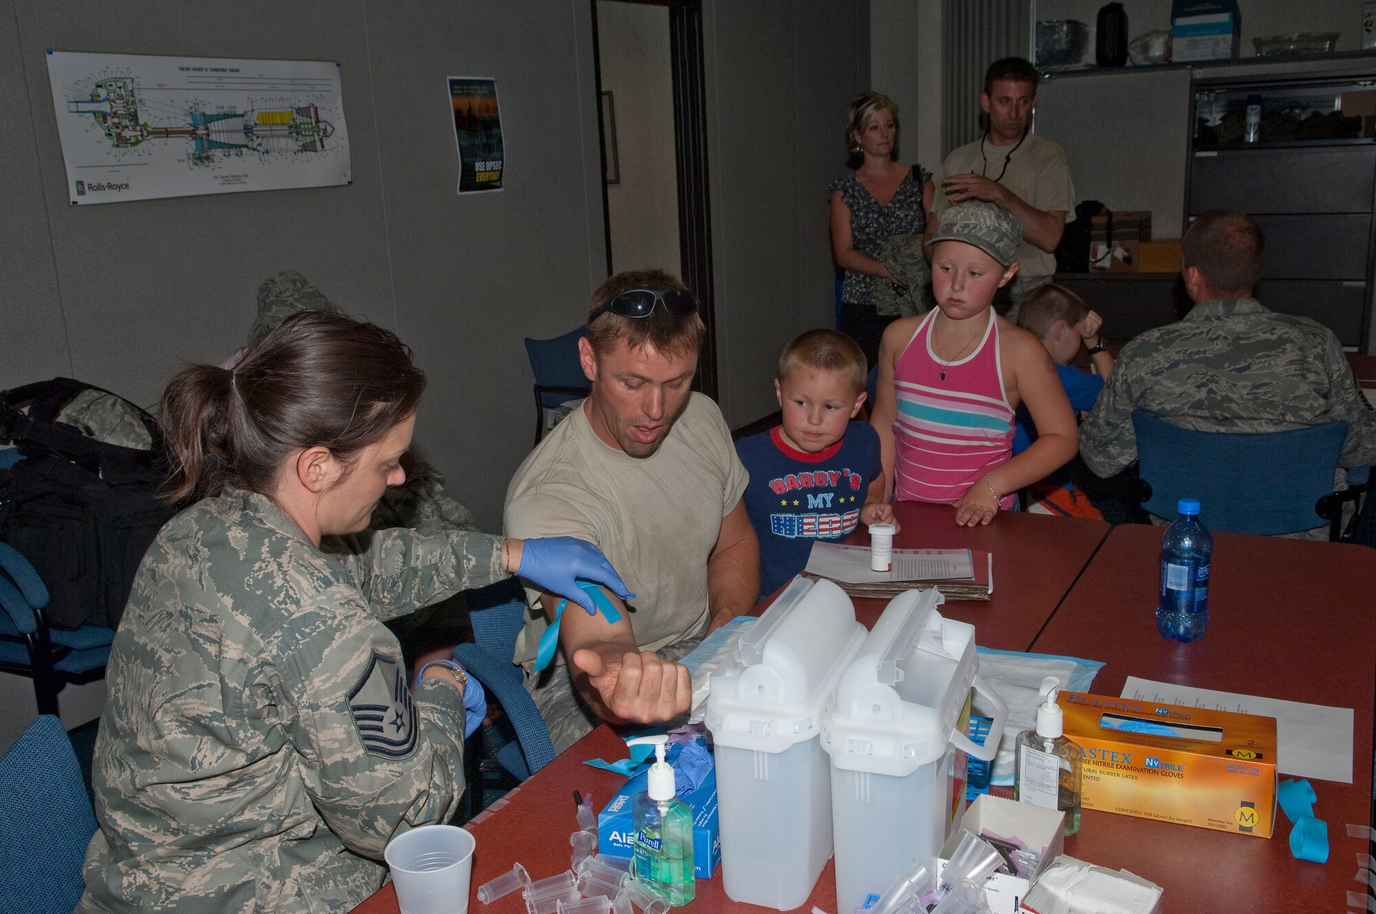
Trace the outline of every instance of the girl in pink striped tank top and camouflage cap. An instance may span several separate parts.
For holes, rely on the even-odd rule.
[[[894,321],[879,346],[871,423],[893,494],[955,505],[959,524],[989,523],[1076,453],[1075,414],[1046,347],[991,307],[1017,273],[1021,235],[996,206],[948,209],[932,238],[937,308]],[[1020,402],[1038,442],[1010,460]]]

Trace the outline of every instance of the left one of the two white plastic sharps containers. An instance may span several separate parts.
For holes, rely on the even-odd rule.
[[[817,735],[864,639],[841,588],[794,578],[711,676],[721,878],[735,902],[798,907],[831,856],[831,778]]]

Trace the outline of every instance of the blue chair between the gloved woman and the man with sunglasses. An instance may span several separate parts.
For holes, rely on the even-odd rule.
[[[473,643],[455,647],[454,659],[506,712],[516,728],[516,742],[502,746],[497,761],[513,778],[526,780],[555,760],[545,719],[522,684],[522,668],[512,663],[516,636],[526,626],[526,593],[510,580],[469,591],[466,599]]]

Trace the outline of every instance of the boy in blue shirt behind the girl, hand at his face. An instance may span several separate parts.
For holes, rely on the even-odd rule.
[[[1050,282],[1038,286],[1022,300],[1018,326],[1042,340],[1042,346],[1051,354],[1055,372],[1076,416],[1094,409],[1094,401],[1104,390],[1104,377],[1113,370],[1113,355],[1099,337],[1104,318],[1090,311],[1084,299],[1062,285]],[[1079,355],[1082,344],[1090,355],[1094,374],[1086,374],[1071,365]],[[1018,427],[1013,434],[1014,454],[1021,454],[1036,439],[1031,420],[1026,409],[1020,407]]]

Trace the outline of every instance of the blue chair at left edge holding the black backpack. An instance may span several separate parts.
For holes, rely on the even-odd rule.
[[[0,670],[33,680],[40,714],[58,713],[63,680],[94,679],[110,659],[114,630],[84,625],[74,632],[48,628],[43,608],[48,588],[29,560],[0,542]]]

